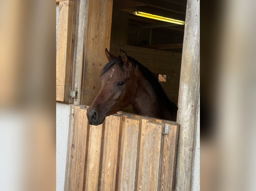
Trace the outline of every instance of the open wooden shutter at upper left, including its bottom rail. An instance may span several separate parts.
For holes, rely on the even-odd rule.
[[[74,1],[56,0],[56,101],[69,102]]]

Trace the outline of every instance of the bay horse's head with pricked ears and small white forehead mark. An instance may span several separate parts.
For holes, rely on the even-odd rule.
[[[106,116],[130,105],[136,95],[133,64],[127,54],[120,51],[121,55],[115,57],[105,50],[109,63],[101,73],[100,92],[87,110],[87,118],[91,125],[102,124]]]

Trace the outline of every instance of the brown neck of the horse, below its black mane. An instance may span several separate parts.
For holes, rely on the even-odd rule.
[[[137,91],[132,107],[139,115],[161,118],[156,93],[151,84],[142,76],[137,81]]]

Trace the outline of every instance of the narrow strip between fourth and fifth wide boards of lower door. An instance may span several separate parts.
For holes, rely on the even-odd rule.
[[[142,170],[143,170],[143,156],[144,156],[144,145],[146,137],[146,123],[148,119],[141,119],[141,131],[140,131],[140,149],[139,149],[139,162],[138,162],[138,179],[137,179],[137,190],[141,190],[142,187]]]

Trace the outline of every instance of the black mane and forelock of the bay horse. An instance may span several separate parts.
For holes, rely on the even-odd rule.
[[[143,75],[143,77],[150,83],[150,85],[153,87],[156,96],[158,98],[158,101],[163,103],[164,105],[167,106],[167,108],[170,111],[177,111],[178,107],[176,106],[175,103],[173,103],[172,101],[169,100],[169,98],[167,97],[167,95],[165,94],[161,84],[159,83],[158,79],[155,77],[155,75],[148,70],[145,66],[143,66],[141,63],[139,63],[137,60],[135,60],[132,57],[128,56],[128,59],[131,61],[132,63],[132,67],[139,67],[139,70],[141,72],[141,74]],[[121,57],[118,56],[115,59],[111,60],[108,64],[106,64],[104,66],[104,68],[101,71],[101,76],[103,74],[105,74],[114,64],[118,63],[119,67],[121,69],[122,72],[125,71],[124,68],[124,62],[122,61]]]

